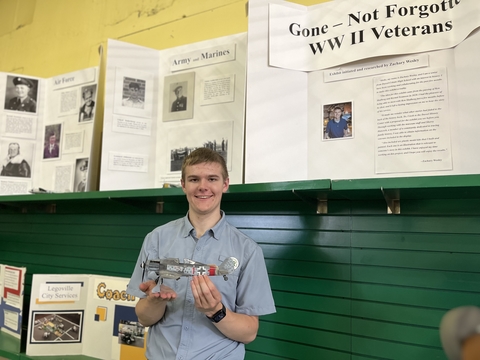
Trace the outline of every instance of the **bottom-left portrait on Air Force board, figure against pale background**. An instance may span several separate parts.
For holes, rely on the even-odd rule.
[[[26,141],[2,140],[0,143],[0,176],[32,177],[34,144]]]

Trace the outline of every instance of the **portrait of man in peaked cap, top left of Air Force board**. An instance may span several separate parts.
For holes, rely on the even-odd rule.
[[[38,80],[23,76],[7,76],[5,110],[37,112]]]

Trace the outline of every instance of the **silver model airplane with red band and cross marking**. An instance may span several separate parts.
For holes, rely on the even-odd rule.
[[[234,257],[225,259],[220,266],[212,264],[203,264],[190,259],[184,259],[181,263],[179,259],[155,259],[146,260],[141,266],[143,274],[147,274],[147,278],[155,280],[158,283],[163,283],[163,279],[180,279],[181,276],[223,276],[227,281],[228,274],[231,274],[238,267],[238,260]]]

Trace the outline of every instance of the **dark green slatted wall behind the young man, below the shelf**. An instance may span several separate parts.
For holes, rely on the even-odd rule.
[[[225,196],[229,221],[264,251],[277,305],[247,360],[446,359],[442,315],[480,305],[480,200],[406,199],[392,215],[363,197],[317,214],[308,196]],[[163,214],[133,200],[66,200],[55,214],[10,205],[0,263],[27,267],[27,304],[33,273],[128,277],[144,235],[187,209],[180,198]]]

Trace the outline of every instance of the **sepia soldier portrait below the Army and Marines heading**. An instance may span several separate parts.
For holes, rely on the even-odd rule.
[[[163,121],[193,118],[195,73],[165,77],[163,88]]]

